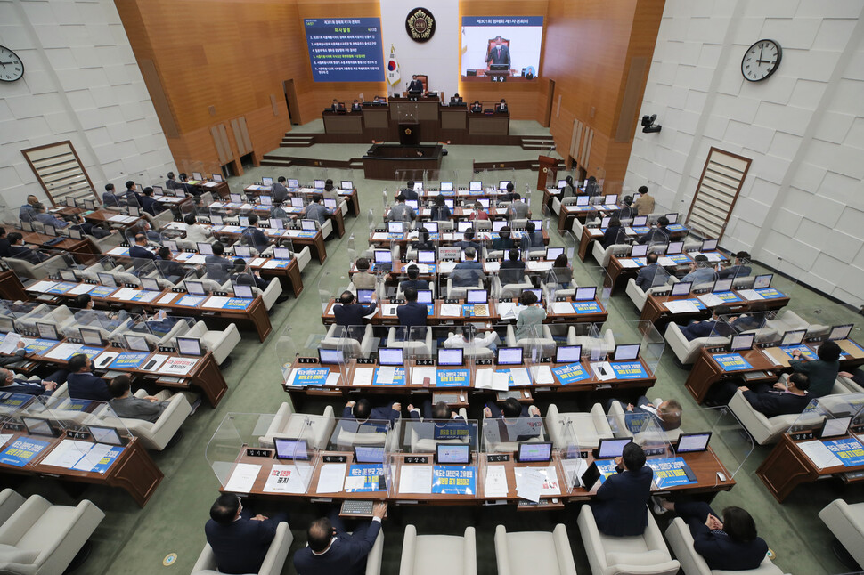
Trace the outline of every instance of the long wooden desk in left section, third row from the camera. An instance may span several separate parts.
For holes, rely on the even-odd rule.
[[[216,317],[230,322],[252,324],[263,342],[273,326],[261,296],[253,299],[220,296],[191,296],[185,291],[162,291],[139,288],[117,288],[71,281],[37,281],[25,288],[30,293],[74,297],[89,294],[95,304],[110,307],[142,307],[146,310],[165,310],[171,315],[198,318]],[[178,288],[179,289],[179,288]]]

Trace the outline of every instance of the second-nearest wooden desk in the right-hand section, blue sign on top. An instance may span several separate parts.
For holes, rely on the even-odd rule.
[[[864,349],[859,344],[851,339],[840,340],[837,344],[843,353],[840,357],[842,368],[864,363]],[[813,356],[816,354],[812,347],[811,353]],[[699,352],[684,386],[697,402],[702,403],[712,385],[721,380],[745,378],[747,383],[773,382],[777,376],[771,375],[771,371],[788,368],[789,354],[780,347],[753,348],[737,353],[713,352],[705,347]]]

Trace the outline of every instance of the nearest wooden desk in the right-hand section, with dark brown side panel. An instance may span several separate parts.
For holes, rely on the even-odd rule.
[[[769,493],[780,503],[783,503],[789,494],[795,490],[795,487],[802,483],[811,483],[825,477],[864,471],[864,465],[849,467],[840,465],[820,469],[798,446],[801,442],[803,441],[795,441],[790,435],[784,433],[769,456],[756,469],[756,475],[768,488]],[[852,481],[860,482],[862,480],[864,477]]]

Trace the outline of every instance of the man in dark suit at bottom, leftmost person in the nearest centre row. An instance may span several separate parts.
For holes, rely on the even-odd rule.
[[[223,493],[210,507],[210,520],[204,526],[207,542],[216,555],[220,573],[257,573],[280,522],[288,514],[253,516],[243,509],[240,498]]]

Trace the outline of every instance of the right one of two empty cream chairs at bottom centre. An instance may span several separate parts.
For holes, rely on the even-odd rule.
[[[499,525],[495,528],[495,559],[498,561],[498,575],[576,575],[570,539],[562,523],[558,523],[551,533],[508,533],[503,525]]]

